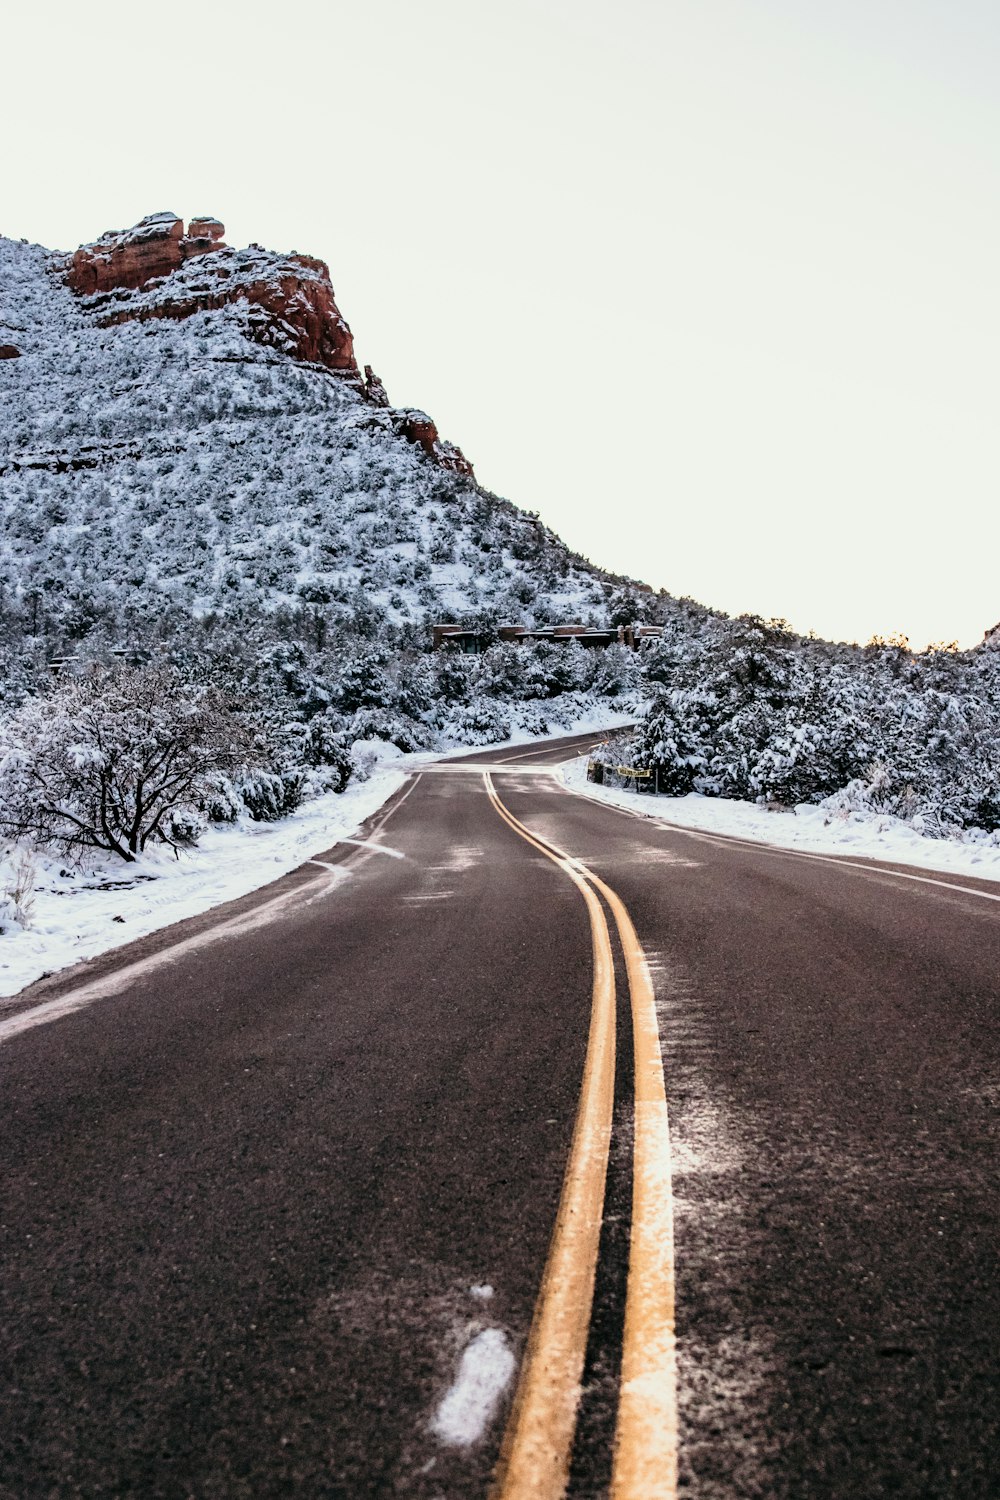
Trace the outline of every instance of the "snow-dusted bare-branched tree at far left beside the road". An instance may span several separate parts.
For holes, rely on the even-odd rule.
[[[117,666],[31,698],[0,736],[0,832],[133,861],[220,772],[267,764],[252,718],[168,668]]]

